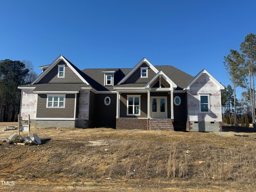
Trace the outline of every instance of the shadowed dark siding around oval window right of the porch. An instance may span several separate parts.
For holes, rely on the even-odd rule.
[[[174,93],[173,94],[173,97],[175,98],[176,96],[179,96],[180,97],[180,105],[179,106],[176,106],[175,104],[174,105],[174,121],[178,121],[178,122],[181,122],[181,121],[187,121],[187,93]]]

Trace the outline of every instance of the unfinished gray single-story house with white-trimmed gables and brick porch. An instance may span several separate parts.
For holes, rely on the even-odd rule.
[[[79,70],[60,55],[22,90],[20,116],[43,127],[222,131],[220,84],[142,58],[133,68]]]

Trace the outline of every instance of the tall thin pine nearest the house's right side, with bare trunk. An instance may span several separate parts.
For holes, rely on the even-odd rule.
[[[230,50],[228,56],[224,56],[224,65],[234,88],[234,124],[236,124],[236,87],[246,87],[244,84],[245,73],[242,68],[244,58],[236,50]]]

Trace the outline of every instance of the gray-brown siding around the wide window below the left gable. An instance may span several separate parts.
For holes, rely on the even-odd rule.
[[[65,108],[46,108],[46,94],[38,94],[37,101],[37,118],[74,118],[75,94],[66,94]]]

